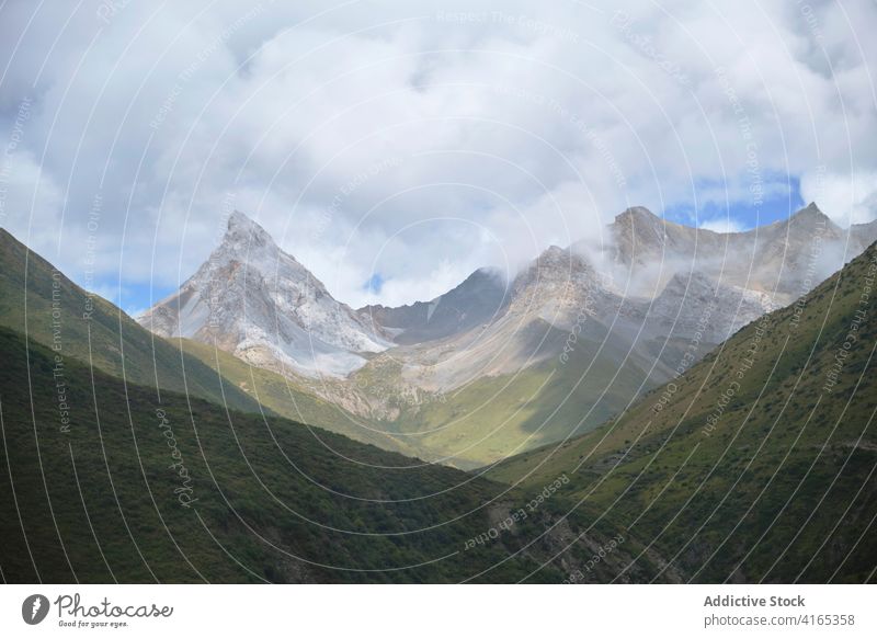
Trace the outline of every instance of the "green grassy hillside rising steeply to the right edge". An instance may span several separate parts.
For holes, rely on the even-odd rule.
[[[675,380],[663,410],[653,406],[668,386],[595,432],[490,476],[539,485],[569,472],[567,495],[624,521],[695,581],[874,580],[877,288],[859,303],[875,260],[872,246],[807,295],[797,327],[793,306],[742,329]],[[825,391],[861,308],[866,319]]]

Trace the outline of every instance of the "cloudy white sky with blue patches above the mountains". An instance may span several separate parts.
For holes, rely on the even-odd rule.
[[[129,311],[235,208],[353,306],[630,205],[877,215],[870,0],[1,7],[0,225]]]

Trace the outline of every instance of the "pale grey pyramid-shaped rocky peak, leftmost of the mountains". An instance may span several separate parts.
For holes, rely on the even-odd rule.
[[[138,318],[161,337],[184,337],[260,367],[343,377],[389,342],[258,224],[234,213],[219,247],[180,290]]]

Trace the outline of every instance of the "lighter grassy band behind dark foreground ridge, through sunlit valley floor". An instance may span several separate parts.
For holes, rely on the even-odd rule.
[[[261,403],[276,414],[317,424],[355,441],[408,456],[446,460],[464,469],[596,426],[627,403],[645,377],[638,367],[628,365],[610,384],[599,405],[589,403],[593,409],[584,417],[581,397],[601,394],[615,371],[591,368],[585,374],[596,345],[582,340],[567,364],[553,360],[517,375],[478,379],[440,397],[423,395],[426,398],[421,405],[410,406],[402,400],[398,419],[374,421],[210,345],[150,334],[114,305],[98,296],[89,297],[2,229],[0,266],[0,326],[26,332],[49,346],[53,284],[57,281],[60,352],[65,356],[91,361],[129,383],[155,386],[158,379],[162,389],[227,402],[232,409],[255,412]],[[88,304],[93,305],[93,310],[91,320],[86,321]],[[556,335],[560,346],[566,337]],[[392,396],[396,383],[397,377],[390,376],[387,387],[378,390]]]

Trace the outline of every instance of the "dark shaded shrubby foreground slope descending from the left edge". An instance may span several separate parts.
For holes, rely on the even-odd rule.
[[[150,388],[126,388],[100,371],[92,380],[73,358],[65,433],[53,353],[31,343],[29,356],[24,338],[5,329],[0,353],[5,581],[558,581],[617,533],[600,519],[560,569],[550,559],[597,516],[579,508],[561,520],[568,504],[555,495],[511,532],[463,551],[532,494],[488,504],[504,488],[335,434],[318,441],[283,419],[226,413],[173,392],[159,405]],[[190,509],[174,494],[183,480],[169,467],[159,408],[192,477]],[[627,538],[586,579],[614,578],[636,550]],[[646,561],[628,577],[656,571]]]

